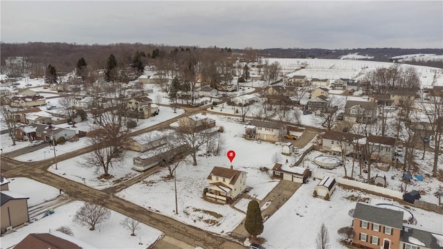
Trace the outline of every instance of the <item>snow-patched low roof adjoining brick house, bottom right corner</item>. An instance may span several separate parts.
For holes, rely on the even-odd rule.
[[[443,234],[441,232],[428,232],[415,228],[414,225],[404,225],[403,230],[400,232],[400,241],[426,248],[443,248]]]

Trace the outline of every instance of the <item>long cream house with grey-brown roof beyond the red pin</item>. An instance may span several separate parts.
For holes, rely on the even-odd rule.
[[[245,128],[246,138],[278,142],[287,133],[286,126],[278,122],[251,120]]]

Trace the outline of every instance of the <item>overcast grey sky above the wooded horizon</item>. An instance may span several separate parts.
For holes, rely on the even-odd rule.
[[[1,42],[443,48],[443,1],[1,1]]]

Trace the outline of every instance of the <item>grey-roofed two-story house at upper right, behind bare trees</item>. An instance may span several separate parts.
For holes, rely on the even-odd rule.
[[[347,100],[343,118],[347,122],[372,123],[377,120],[377,102]]]

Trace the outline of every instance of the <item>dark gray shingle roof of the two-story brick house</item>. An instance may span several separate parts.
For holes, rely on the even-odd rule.
[[[354,218],[386,225],[399,230],[403,228],[403,212],[390,210],[388,208],[379,208],[366,203],[356,204]]]

